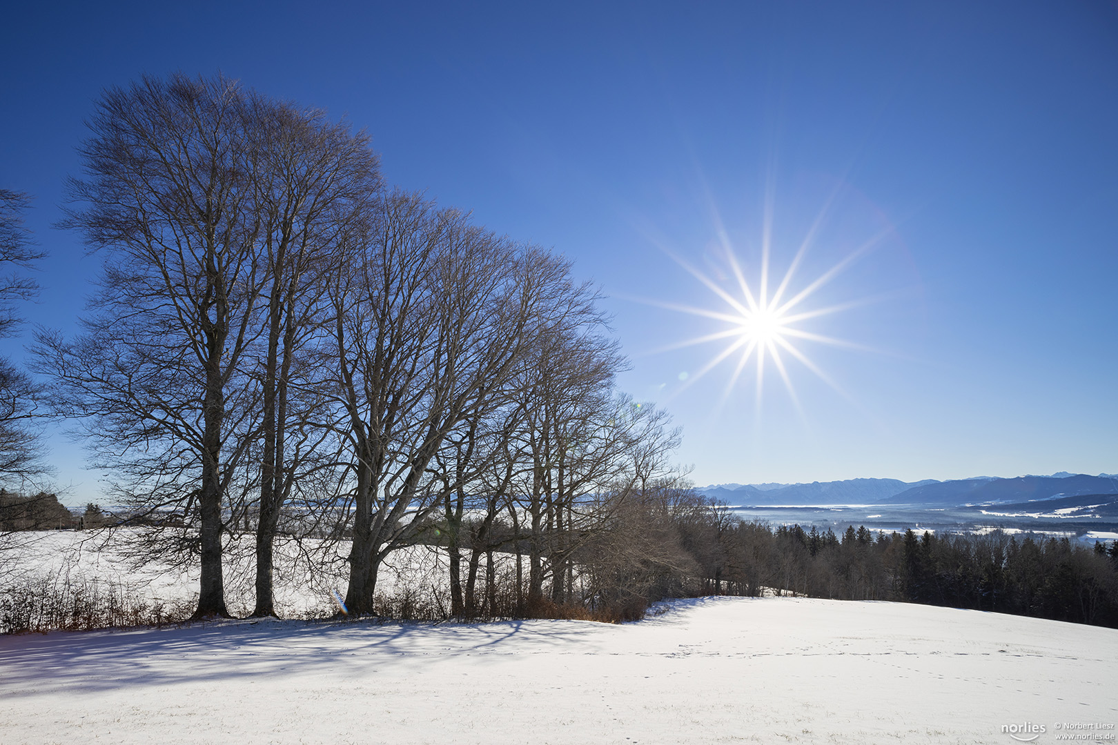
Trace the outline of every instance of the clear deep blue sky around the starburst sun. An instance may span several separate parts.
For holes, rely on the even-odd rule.
[[[699,484],[1118,471],[1118,4],[405,4],[9,10],[0,180],[50,254],[28,318],[72,329],[97,270],[50,223],[100,90],[221,70],[571,257]],[[877,239],[797,306],[851,306],[798,327],[852,346],[787,340],[826,381],[657,351],[727,327],[663,307],[731,311],[682,264],[740,295],[729,247],[756,292],[767,225],[775,286],[816,222],[786,297]]]

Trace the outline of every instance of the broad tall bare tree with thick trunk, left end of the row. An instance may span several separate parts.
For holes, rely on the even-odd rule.
[[[227,614],[222,509],[258,411],[243,365],[265,276],[246,121],[221,76],[103,94],[64,221],[105,252],[100,292],[82,335],[40,334],[37,353],[55,411],[85,421],[116,490],[146,522],[183,526],[198,615]]]

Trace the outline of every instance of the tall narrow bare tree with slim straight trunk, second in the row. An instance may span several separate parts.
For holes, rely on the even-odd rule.
[[[307,351],[326,305],[325,290],[344,260],[348,236],[368,219],[380,190],[378,157],[363,133],[252,94],[247,107],[252,189],[265,262],[262,440],[256,520],[256,608],[275,615],[273,550],[283,505],[322,451],[307,427],[322,397],[309,391]]]

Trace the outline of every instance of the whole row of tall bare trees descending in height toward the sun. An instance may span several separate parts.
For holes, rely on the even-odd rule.
[[[626,503],[671,479],[678,433],[615,394],[596,290],[386,188],[364,133],[184,75],[106,90],[88,126],[65,227],[104,270],[78,335],[38,334],[35,370],[143,526],[136,553],[200,563],[197,615],[228,612],[237,531],[255,615],[276,612],[291,531],[350,542],[352,613],[419,542],[448,544],[458,612],[498,550],[527,555],[530,600],[568,602]]]

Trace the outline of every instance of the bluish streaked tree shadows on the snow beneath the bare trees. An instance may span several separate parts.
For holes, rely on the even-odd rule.
[[[423,671],[440,658],[591,653],[618,627],[588,621],[220,621],[182,628],[0,637],[0,693],[114,690],[259,676]]]

